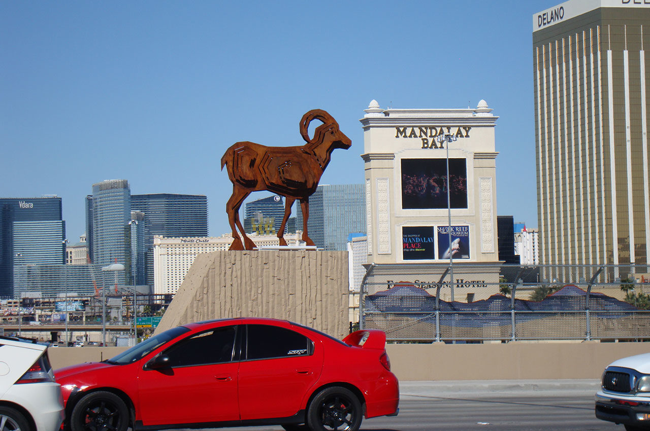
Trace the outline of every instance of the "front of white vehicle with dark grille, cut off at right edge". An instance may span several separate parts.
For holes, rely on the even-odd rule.
[[[605,368],[595,396],[598,419],[626,430],[650,430],[650,353],[616,360]]]

